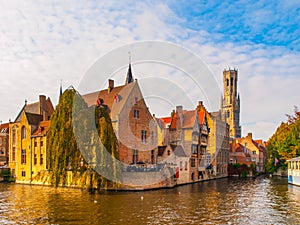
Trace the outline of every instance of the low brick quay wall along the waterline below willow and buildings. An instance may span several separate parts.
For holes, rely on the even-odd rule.
[[[227,178],[227,175],[205,175],[198,180],[188,183],[178,183],[174,171],[169,167],[164,167],[158,171],[123,171],[120,177],[120,183],[112,186],[101,186],[97,184],[97,180],[93,173],[86,171],[83,174],[74,174],[72,171],[67,171],[66,183],[59,184],[58,187],[87,189],[91,192],[95,191],[149,191],[156,189],[170,189],[177,186],[184,186],[193,183],[205,182],[215,179]],[[16,181],[17,184],[50,186],[51,174],[49,171],[43,171],[31,181]]]

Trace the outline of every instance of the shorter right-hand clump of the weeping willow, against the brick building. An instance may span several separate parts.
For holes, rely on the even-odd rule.
[[[121,175],[118,141],[106,108],[92,106],[81,110],[76,113],[74,124],[84,166],[96,171],[94,177],[99,188],[116,187]]]

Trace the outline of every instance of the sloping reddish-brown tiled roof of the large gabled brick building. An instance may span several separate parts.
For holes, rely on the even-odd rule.
[[[112,117],[112,114],[116,115],[122,110],[135,85],[137,85],[137,82],[132,82],[126,85],[114,87],[110,91],[108,91],[108,89],[104,89],[101,91],[85,94],[82,96],[82,98],[89,107],[96,105],[96,102],[99,98],[102,99],[103,104],[108,107],[110,115]],[[112,111],[114,111],[114,113],[112,113]]]

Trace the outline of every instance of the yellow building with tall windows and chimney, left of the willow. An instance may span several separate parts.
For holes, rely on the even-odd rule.
[[[47,123],[54,111],[50,98],[40,95],[39,101],[21,109],[14,122],[9,124],[9,167],[16,182],[30,183],[39,169],[45,168],[45,134]],[[37,131],[44,129],[44,133]],[[39,140],[39,142],[38,142]],[[37,152],[39,143],[39,152]],[[41,146],[42,145],[42,146]],[[35,161],[39,154],[39,160]],[[39,161],[39,166],[35,162]],[[42,162],[42,163],[41,163]]]

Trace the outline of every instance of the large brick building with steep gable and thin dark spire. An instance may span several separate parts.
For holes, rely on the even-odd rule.
[[[155,164],[157,158],[157,123],[145,103],[138,81],[129,64],[126,82],[82,96],[88,106],[105,106],[118,138],[120,160],[127,164]]]

